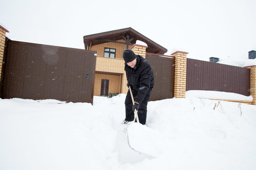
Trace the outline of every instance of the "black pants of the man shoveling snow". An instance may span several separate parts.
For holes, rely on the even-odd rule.
[[[132,91],[134,98],[137,95],[137,91]],[[147,102],[148,99],[150,99],[150,94],[151,94],[151,89],[148,89],[145,98],[139,105],[139,110],[138,110],[138,117],[139,117],[139,122],[142,125],[146,124],[146,112],[147,112]],[[134,112],[133,112],[133,101],[131,97],[130,90],[128,90],[126,98],[125,98],[125,120],[127,121],[132,121],[134,119]],[[137,120],[135,120],[137,122]]]

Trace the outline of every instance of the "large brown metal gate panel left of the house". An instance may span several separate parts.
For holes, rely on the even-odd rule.
[[[95,53],[9,40],[1,98],[93,103]]]

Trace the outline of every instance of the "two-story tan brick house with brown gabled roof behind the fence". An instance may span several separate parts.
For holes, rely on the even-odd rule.
[[[146,53],[163,55],[167,49],[132,28],[108,31],[83,37],[86,50],[97,51],[94,95],[126,93],[122,52],[137,40],[147,44]]]

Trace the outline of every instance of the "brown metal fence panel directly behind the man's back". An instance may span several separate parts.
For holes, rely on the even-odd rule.
[[[154,72],[155,86],[150,101],[171,99],[174,97],[175,59],[146,54]]]

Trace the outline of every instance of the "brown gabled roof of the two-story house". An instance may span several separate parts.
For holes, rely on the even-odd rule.
[[[158,53],[158,54],[164,54],[167,52],[167,49],[162,47],[161,45],[157,44],[156,42],[152,41],[151,39],[145,37],[144,35],[140,34],[136,30],[132,29],[131,27],[120,29],[120,30],[114,30],[114,31],[108,31],[98,34],[92,34],[92,35],[86,35],[83,36],[83,42],[84,45],[90,46],[90,41],[92,40],[92,45],[97,45],[101,43],[105,43],[104,40],[123,40],[122,35],[125,37],[129,33],[130,39],[134,37],[134,39],[131,41],[132,44],[136,43],[136,40],[143,41],[147,44],[146,52],[147,53]]]

